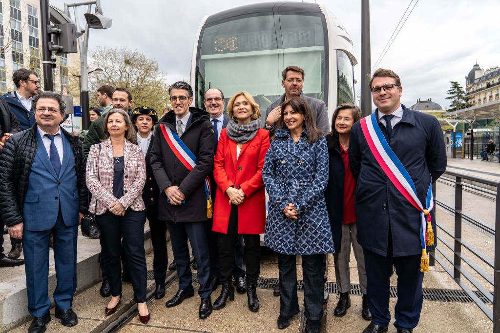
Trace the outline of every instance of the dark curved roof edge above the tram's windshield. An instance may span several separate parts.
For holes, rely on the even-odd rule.
[[[303,11],[303,12],[314,12],[321,13],[321,8],[317,3],[310,2],[263,2],[254,3],[244,6],[239,6],[236,8],[227,9],[216,14],[207,17],[205,24],[210,24],[219,20],[228,19],[240,15],[256,14],[260,12],[272,12],[272,11]]]

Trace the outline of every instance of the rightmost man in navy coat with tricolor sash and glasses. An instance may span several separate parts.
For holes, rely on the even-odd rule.
[[[394,327],[411,333],[422,309],[427,254],[435,247],[431,184],[446,170],[446,151],[437,119],[400,103],[396,73],[377,69],[369,86],[377,109],[352,126],[349,147],[372,315],[363,333],[388,330],[392,266],[398,296]]]

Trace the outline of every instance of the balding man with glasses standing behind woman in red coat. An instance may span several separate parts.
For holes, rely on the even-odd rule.
[[[213,126],[214,150],[216,151],[220,131],[227,126],[227,122],[229,121],[224,112],[224,94],[220,89],[211,88],[206,90],[203,96],[203,104],[205,110],[210,114],[210,122]],[[213,179],[213,173],[210,172],[208,177],[210,177],[212,203],[214,203],[217,184],[215,183],[215,179]],[[218,236],[217,233],[212,231],[212,223],[213,219],[209,218],[206,224],[206,237],[208,239],[208,250],[210,251],[210,283],[212,290],[215,290],[219,284],[220,270],[217,250]],[[243,268],[243,238],[241,235],[239,235],[236,244],[234,244],[234,269],[232,276],[235,280],[236,291],[239,294],[246,293],[245,270]]]

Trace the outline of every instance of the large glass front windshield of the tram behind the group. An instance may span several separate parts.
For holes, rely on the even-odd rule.
[[[222,90],[226,102],[245,90],[263,119],[266,107],[284,93],[281,71],[290,65],[305,71],[303,93],[326,102],[325,31],[319,14],[270,13],[205,26],[198,45],[196,106],[203,107],[208,88]]]

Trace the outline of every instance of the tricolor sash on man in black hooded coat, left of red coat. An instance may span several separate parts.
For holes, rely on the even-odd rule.
[[[164,124],[159,124],[161,133],[165,138],[168,147],[173,151],[178,160],[186,167],[187,170],[191,171],[196,166],[196,156],[187,148],[187,146],[180,140],[179,136],[175,131],[172,131],[169,127]],[[210,198],[210,179],[208,176],[205,178],[205,195],[206,195],[206,217],[212,217],[212,199]]]

